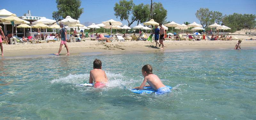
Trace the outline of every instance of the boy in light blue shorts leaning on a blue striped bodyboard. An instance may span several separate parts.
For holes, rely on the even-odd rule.
[[[167,88],[159,79],[159,77],[157,77],[155,74],[153,74],[152,72],[152,66],[147,64],[144,65],[141,69],[142,75],[144,76],[144,80],[141,83],[140,87],[135,87],[134,89],[139,89],[142,90],[143,87],[152,87],[154,90],[156,90],[156,94],[164,94],[164,93],[168,93],[171,92],[171,90],[169,88]],[[146,85],[146,82],[149,85]]]

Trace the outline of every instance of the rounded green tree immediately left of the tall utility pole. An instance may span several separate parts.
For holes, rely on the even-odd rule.
[[[139,25],[139,23],[145,23],[148,21],[149,13],[150,8],[148,4],[143,5],[143,3],[141,3],[139,5],[135,5],[132,8],[132,21],[136,20],[138,22],[137,25]]]

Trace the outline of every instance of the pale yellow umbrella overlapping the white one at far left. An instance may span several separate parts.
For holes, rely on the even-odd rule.
[[[4,22],[4,23],[11,23],[11,21],[13,21],[14,24],[26,24],[25,20],[20,19],[15,14],[12,14],[9,17],[4,17],[4,18],[0,19],[0,21]],[[17,28],[16,28],[16,31],[17,31]],[[13,26],[12,26],[12,35],[13,35]],[[17,33],[16,33],[16,35],[17,35]]]

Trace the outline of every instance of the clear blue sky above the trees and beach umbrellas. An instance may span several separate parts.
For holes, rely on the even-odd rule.
[[[109,19],[120,21],[114,15],[113,7],[119,0],[81,0],[81,8],[84,13],[80,16],[80,23],[92,22],[101,23]],[[210,1],[210,2],[208,2]],[[150,4],[150,0],[133,0],[135,4]],[[223,15],[241,13],[256,14],[256,0],[153,0],[161,2],[168,11],[167,21],[174,21],[182,24],[185,21],[200,23],[196,18],[196,10],[209,8],[213,11],[220,11]],[[56,11],[55,0],[1,0],[0,9],[6,9],[17,16],[23,16],[31,10],[32,16],[40,16],[52,19],[52,12]],[[157,13],[156,13],[157,14]],[[128,24],[127,21],[121,21]],[[136,26],[137,22],[132,24]]]

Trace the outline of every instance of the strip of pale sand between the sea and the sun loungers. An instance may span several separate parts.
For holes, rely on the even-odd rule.
[[[237,41],[164,41],[164,50],[154,48],[155,42],[127,41],[127,42],[97,42],[85,41],[68,43],[70,56],[79,55],[106,55],[106,54],[130,54],[130,53],[156,53],[156,52],[180,52],[201,50],[231,50]],[[3,45],[4,56],[2,59],[57,57],[53,55],[59,50],[60,41],[56,43],[17,44]],[[162,47],[162,46],[161,46]],[[242,49],[256,49],[256,41],[243,41]],[[62,47],[60,56],[65,56],[67,50]]]

